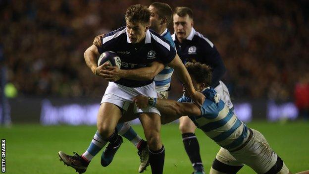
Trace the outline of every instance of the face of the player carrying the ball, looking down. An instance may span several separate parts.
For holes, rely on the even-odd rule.
[[[132,44],[140,43],[146,36],[148,24],[127,22],[127,33]]]

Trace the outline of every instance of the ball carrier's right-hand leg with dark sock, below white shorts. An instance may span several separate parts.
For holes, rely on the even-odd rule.
[[[160,137],[160,116],[155,113],[142,113],[139,117],[149,145],[149,163],[152,174],[162,174],[165,152]]]

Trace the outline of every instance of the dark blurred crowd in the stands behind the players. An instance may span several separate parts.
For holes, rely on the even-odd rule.
[[[8,81],[24,96],[102,97],[107,82],[92,74],[84,51],[96,35],[125,25],[129,5],[152,2],[0,0],[1,64]],[[193,9],[195,29],[224,60],[232,99],[308,102],[308,0],[164,2]],[[174,78],[172,85],[177,83]]]

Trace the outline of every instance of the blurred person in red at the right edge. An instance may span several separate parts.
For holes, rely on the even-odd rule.
[[[309,73],[300,77],[300,81],[295,86],[295,104],[299,109],[299,116],[309,120]]]

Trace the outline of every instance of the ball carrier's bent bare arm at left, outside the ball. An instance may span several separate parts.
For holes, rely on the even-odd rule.
[[[84,53],[84,58],[87,66],[95,75],[102,76],[100,70],[105,69],[108,64],[102,64],[98,67],[97,58],[100,56],[98,48],[95,45],[90,46]]]

